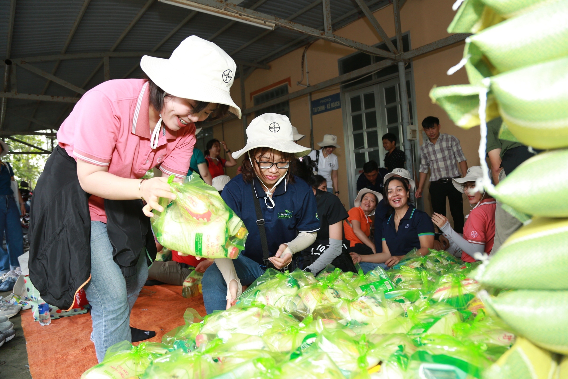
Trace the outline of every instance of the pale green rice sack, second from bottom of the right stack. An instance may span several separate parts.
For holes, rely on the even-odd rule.
[[[547,350],[568,353],[568,291],[516,290],[481,296],[487,310],[517,334]]]

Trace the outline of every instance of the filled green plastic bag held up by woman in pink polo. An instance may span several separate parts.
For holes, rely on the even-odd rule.
[[[205,258],[236,259],[244,250],[248,231],[225,204],[219,192],[197,175],[183,183],[168,178],[176,199],[160,198],[163,212],[153,210],[152,230],[164,247]]]

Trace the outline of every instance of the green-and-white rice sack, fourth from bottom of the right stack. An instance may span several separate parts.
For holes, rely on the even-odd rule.
[[[568,217],[568,175],[559,173],[559,167],[568,167],[568,149],[543,152],[524,161],[492,194],[529,215]]]

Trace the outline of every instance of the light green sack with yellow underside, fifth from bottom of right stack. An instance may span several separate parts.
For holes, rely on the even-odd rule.
[[[521,143],[539,149],[568,147],[568,57],[491,77],[491,92],[507,128]]]

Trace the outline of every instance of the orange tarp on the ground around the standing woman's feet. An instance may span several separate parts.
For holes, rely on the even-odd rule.
[[[186,299],[181,290],[172,285],[144,287],[132,309],[131,326],[156,331],[148,341],[160,342],[166,332],[184,323],[186,308],[204,316],[202,296]],[[95,345],[90,341],[90,314],[62,317],[40,326],[27,310],[22,312],[22,327],[33,379],[75,379],[97,364]]]

